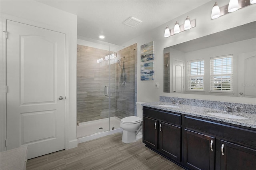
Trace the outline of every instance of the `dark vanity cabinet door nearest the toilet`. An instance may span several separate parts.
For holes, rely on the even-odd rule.
[[[158,121],[149,117],[143,117],[142,141],[150,148],[158,148]]]

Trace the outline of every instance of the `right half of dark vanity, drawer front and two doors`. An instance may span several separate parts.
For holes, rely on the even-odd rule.
[[[184,161],[189,169],[255,170],[256,131],[184,116]]]

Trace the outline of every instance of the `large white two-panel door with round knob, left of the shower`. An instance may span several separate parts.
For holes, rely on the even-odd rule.
[[[7,20],[7,150],[65,148],[65,34]]]

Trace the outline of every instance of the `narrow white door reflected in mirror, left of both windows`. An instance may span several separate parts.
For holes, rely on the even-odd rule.
[[[172,60],[172,92],[184,92],[184,61]]]

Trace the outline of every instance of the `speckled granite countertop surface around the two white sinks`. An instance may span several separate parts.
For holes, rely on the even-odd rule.
[[[175,105],[175,106],[178,106],[179,108],[162,107],[159,105],[174,105],[174,104],[166,103],[166,102],[154,102],[154,103],[142,104],[142,106],[161,109],[164,111],[171,111],[171,112],[181,113],[184,115],[191,115],[191,116],[201,117],[201,118],[210,119],[214,121],[220,121],[220,122],[231,123],[234,125],[240,125],[244,127],[256,128],[256,114],[242,113],[242,112],[239,112],[239,113],[224,112],[217,109],[211,109],[207,107],[197,107],[197,106],[191,106],[191,105]],[[248,119],[232,119],[232,118],[218,117],[218,116],[210,115],[207,112],[217,112],[217,113],[224,113],[229,115],[242,116]]]

